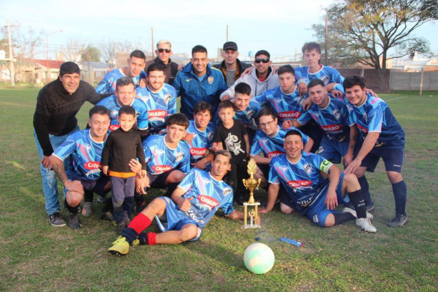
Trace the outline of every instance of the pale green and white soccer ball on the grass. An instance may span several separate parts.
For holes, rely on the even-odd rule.
[[[248,246],[243,255],[245,267],[254,274],[265,274],[274,266],[275,256],[272,249],[263,243]]]

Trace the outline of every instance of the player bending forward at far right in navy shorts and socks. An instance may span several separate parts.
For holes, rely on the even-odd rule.
[[[361,145],[356,147],[355,158],[348,164],[345,172],[356,174],[361,188],[368,195],[369,201],[366,204],[374,209],[365,170],[373,172],[382,158],[386,175],[392,184],[396,206],[396,217],[386,225],[402,227],[407,222],[406,183],[402,177],[404,131],[388,105],[366,91],[364,77],[347,77],[344,80],[344,88],[348,99],[348,111],[361,133]]]

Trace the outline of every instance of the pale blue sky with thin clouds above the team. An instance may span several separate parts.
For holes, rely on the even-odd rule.
[[[100,41],[130,40],[150,48],[150,28],[154,27],[155,42],[166,38],[176,53],[190,53],[194,45],[202,44],[210,57],[229,38],[236,41],[241,56],[249,51],[268,50],[273,57],[300,54],[306,41],[314,40],[311,25],[321,22],[323,7],[332,0],[278,1],[141,1],[141,0],[3,0],[0,19],[19,22],[39,32],[63,32],[49,37],[51,56],[69,38]],[[428,23],[416,31],[425,37],[431,49],[438,52],[435,32],[438,23]],[[45,52],[44,46],[40,52]]]

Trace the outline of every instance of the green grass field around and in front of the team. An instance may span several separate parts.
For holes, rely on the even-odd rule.
[[[406,132],[403,176],[409,222],[390,229],[391,185],[380,162],[368,174],[376,206],[376,234],[353,221],[320,228],[278,210],[262,228],[215,216],[200,240],[180,245],[136,246],[111,256],[114,226],[95,213],[83,228],[54,228],[44,209],[33,136],[38,89],[0,89],[0,291],[403,291],[438,290],[438,93],[382,94]],[[77,117],[85,126],[87,104]],[[148,194],[146,200],[161,195]],[[67,219],[66,210],[62,215]],[[158,231],[155,223],[152,231]],[[279,237],[302,241],[297,248]],[[249,273],[243,252],[255,237],[275,254],[267,274]]]

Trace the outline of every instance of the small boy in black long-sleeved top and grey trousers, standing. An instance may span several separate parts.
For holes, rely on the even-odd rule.
[[[146,158],[138,131],[132,127],[136,122],[135,110],[123,106],[117,120],[120,128],[108,136],[102,152],[103,173],[111,177],[112,205],[116,232],[122,234],[129,224],[129,216],[134,202],[135,176],[129,168],[129,161],[138,157],[142,164],[141,176],[146,175]]]

